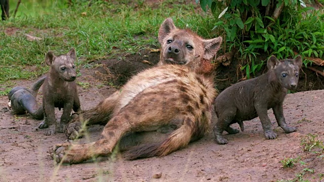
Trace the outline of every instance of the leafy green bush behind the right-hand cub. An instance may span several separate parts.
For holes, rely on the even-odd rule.
[[[237,51],[247,77],[259,71],[264,61],[258,54],[274,54],[278,59],[322,58],[324,15],[306,7],[302,0],[196,0],[214,16],[214,28],[226,39],[226,50]],[[221,13],[220,13],[221,12]],[[304,59],[304,65],[311,61]]]

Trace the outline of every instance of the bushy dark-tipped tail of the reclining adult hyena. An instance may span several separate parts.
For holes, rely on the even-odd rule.
[[[168,155],[173,151],[186,147],[191,140],[192,131],[193,128],[191,125],[184,122],[184,124],[173,131],[166,140],[155,144],[143,144],[134,147],[125,152],[124,157],[127,160],[135,160]]]

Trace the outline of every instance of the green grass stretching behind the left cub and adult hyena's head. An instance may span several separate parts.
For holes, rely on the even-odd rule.
[[[0,22],[0,85],[12,79],[30,79],[48,71],[44,58],[51,50],[66,53],[74,47],[77,66],[97,59],[134,54],[159,47],[157,32],[167,17],[180,28],[188,27],[209,38],[211,16],[200,16],[194,1],[23,1],[15,18]],[[10,14],[16,7],[11,1]],[[198,9],[198,10],[197,10]],[[42,38],[29,41],[25,34]]]

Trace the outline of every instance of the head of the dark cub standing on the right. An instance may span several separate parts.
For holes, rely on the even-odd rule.
[[[273,71],[273,78],[287,89],[295,89],[299,78],[299,69],[302,67],[300,55],[296,59],[278,60],[275,56],[268,59],[267,67]]]

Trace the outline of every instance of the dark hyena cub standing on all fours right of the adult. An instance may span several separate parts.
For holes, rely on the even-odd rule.
[[[230,127],[239,123],[244,130],[243,121],[259,116],[266,139],[275,139],[277,134],[271,128],[268,109],[272,108],[278,125],[286,133],[296,131],[296,127],[287,125],[282,109],[282,103],[287,95],[287,89],[297,87],[299,69],[302,59],[278,60],[275,56],[268,59],[268,72],[250,79],[233,84],[226,88],[215,99],[215,112],[218,122],[214,127],[214,134],[218,144],[227,144],[223,138],[223,131],[230,134],[239,132]]]

